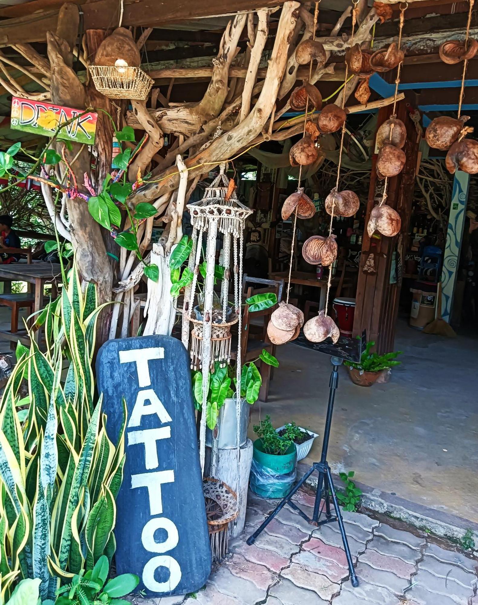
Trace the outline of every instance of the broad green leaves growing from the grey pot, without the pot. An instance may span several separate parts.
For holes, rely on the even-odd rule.
[[[265,348],[254,361],[258,359],[276,368],[279,365],[277,359],[273,355],[270,355]],[[244,397],[250,405],[255,404],[257,401],[262,384],[261,374],[254,361],[244,364],[241,370],[241,397]],[[223,407],[226,399],[231,399],[236,391],[235,367],[232,365],[220,367],[219,362],[215,362],[214,372],[209,374],[209,391],[206,401],[206,424],[208,428],[214,430],[219,410]],[[192,393],[194,395],[195,408],[202,410],[203,374],[201,370],[197,370],[192,374]]]

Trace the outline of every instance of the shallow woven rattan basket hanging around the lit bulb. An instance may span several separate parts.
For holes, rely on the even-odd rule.
[[[91,77],[96,90],[109,99],[148,98],[152,80],[140,67],[116,67],[116,65],[90,65]]]

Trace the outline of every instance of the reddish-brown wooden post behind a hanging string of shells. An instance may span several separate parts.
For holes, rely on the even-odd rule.
[[[382,108],[378,114],[378,126],[390,117],[390,108]],[[401,283],[390,283],[391,267],[394,252],[404,255],[404,243],[408,233],[408,224],[411,215],[413,200],[413,185],[416,173],[419,140],[414,123],[411,121],[407,103],[398,103],[397,117],[404,122],[407,128],[407,142],[404,151],[407,163],[402,172],[390,179],[387,204],[399,212],[402,219],[401,233],[393,238],[368,237],[367,223],[372,208],[381,200],[384,181],[379,181],[375,165],[377,156],[372,158],[372,174],[370,175],[370,189],[368,192],[367,212],[365,215],[365,232],[362,242],[362,255],[359,267],[359,278],[356,293],[355,320],[353,335],[359,335],[367,330],[367,339],[375,341],[376,350],[386,353],[393,350],[395,340],[395,324],[398,315],[398,302],[400,298]],[[402,236],[402,237],[400,237]],[[374,255],[376,273],[364,273],[364,265],[370,253]]]

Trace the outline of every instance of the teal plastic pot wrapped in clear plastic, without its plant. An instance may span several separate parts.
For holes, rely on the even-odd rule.
[[[261,439],[254,442],[250,488],[263,498],[283,498],[295,482],[297,451],[292,443],[285,454],[274,456],[264,451]]]

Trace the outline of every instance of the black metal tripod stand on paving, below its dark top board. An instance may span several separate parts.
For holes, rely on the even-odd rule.
[[[339,365],[342,364],[342,359],[339,357],[330,358],[330,362],[332,363],[332,374],[330,374],[330,382],[329,382],[329,405],[327,406],[327,417],[326,417],[326,426],[324,428],[324,440],[322,442],[322,454],[320,458],[320,462],[314,462],[313,465],[309,468],[306,474],[302,477],[300,482],[298,482],[289,494],[281,500],[281,502],[276,506],[276,508],[272,511],[269,517],[262,523],[262,525],[254,532],[254,534],[250,535],[247,538],[247,544],[250,546],[254,544],[254,541],[258,537],[258,535],[266,528],[268,523],[272,521],[272,519],[277,515],[277,513],[287,504],[298,512],[307,522],[316,527],[321,527],[322,525],[326,525],[326,523],[334,523],[338,522],[340,534],[342,536],[342,542],[344,543],[344,551],[345,557],[347,557],[347,564],[349,565],[350,572],[350,581],[352,582],[353,587],[357,587],[359,585],[358,578],[355,574],[355,569],[353,567],[352,555],[350,554],[349,542],[347,541],[347,535],[345,534],[344,521],[342,519],[342,514],[339,509],[339,505],[337,502],[337,498],[335,495],[335,487],[333,485],[332,473],[330,473],[330,466],[327,462],[327,450],[329,448],[329,437],[330,437],[330,426],[332,425],[332,413],[333,413],[333,402],[335,399],[335,391],[338,385],[338,369]],[[306,480],[312,475],[312,473],[319,474],[317,481],[317,490],[315,493],[315,504],[313,507],[312,518],[308,517],[304,511],[302,511],[295,502],[292,502],[291,498],[295,494],[298,489],[306,482]],[[333,508],[335,511],[335,515],[332,515],[330,511],[330,500],[329,495],[332,497]],[[324,504],[326,508],[325,518],[320,520],[320,517],[323,512],[324,506],[321,507],[322,497],[324,499]]]

